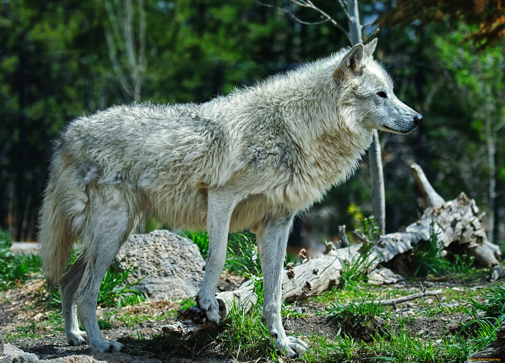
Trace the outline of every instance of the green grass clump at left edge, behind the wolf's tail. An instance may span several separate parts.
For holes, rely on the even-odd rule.
[[[0,230],[0,290],[19,285],[40,273],[39,256],[11,253],[12,242],[7,232]]]

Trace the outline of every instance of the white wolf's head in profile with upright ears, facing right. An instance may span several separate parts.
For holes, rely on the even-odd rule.
[[[352,107],[367,129],[409,133],[423,116],[393,93],[391,77],[372,57],[376,45],[377,38],[367,45],[356,44],[335,70],[342,91],[339,103]]]

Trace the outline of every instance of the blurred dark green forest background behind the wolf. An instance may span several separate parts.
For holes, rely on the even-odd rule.
[[[4,0],[0,228],[13,240],[36,239],[52,140],[73,118],[135,100],[205,102],[349,45],[331,21],[303,24],[294,18],[323,21],[316,11],[288,0],[264,2],[270,6],[253,0]],[[393,3],[404,6],[399,18]],[[391,73],[397,96],[424,116],[409,135],[380,134],[386,232],[418,218],[419,192],[409,169],[416,162],[444,199],[464,191],[494,216],[487,231],[500,243],[503,30],[492,28],[491,41],[468,39],[483,28],[476,14],[497,14],[495,25],[503,25],[503,8],[497,1],[462,2],[473,14],[465,17],[456,9],[459,2],[446,3],[453,9],[437,9],[433,0],[359,1],[365,38],[379,38],[375,56]],[[314,4],[347,27],[338,1]],[[417,14],[415,6],[424,13]],[[360,166],[296,221],[292,243],[334,238],[341,224],[360,227],[372,213],[366,155]]]

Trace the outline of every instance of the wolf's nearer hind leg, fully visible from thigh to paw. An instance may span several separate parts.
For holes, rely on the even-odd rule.
[[[96,197],[93,214],[83,235],[85,268],[74,294],[77,316],[86,331],[93,352],[116,352],[124,346],[117,341],[105,341],[96,319],[96,302],[100,284],[121,244],[128,237],[131,221],[127,204],[120,191],[108,190]]]

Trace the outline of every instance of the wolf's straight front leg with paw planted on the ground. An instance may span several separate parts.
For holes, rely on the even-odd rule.
[[[296,337],[287,337],[281,320],[282,267],[292,216],[279,216],[265,221],[257,231],[263,271],[263,321],[268,326],[275,347],[290,358],[298,356],[308,345]]]

